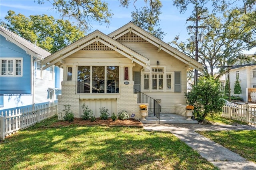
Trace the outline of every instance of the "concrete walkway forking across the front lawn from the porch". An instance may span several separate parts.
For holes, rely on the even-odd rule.
[[[221,170],[256,170],[250,162],[195,131],[256,130],[252,125],[144,124],[148,131],[169,131]]]

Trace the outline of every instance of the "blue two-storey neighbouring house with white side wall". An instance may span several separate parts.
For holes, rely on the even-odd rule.
[[[0,111],[57,101],[63,70],[42,70],[48,51],[0,26]]]

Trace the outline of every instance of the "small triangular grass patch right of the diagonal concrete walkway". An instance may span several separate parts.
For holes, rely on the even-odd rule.
[[[256,130],[200,131],[198,133],[256,163]]]

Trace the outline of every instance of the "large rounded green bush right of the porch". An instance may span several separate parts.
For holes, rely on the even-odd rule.
[[[197,85],[185,94],[188,105],[193,105],[196,120],[203,121],[208,114],[220,113],[225,103],[222,99],[220,81],[213,77],[200,77]]]

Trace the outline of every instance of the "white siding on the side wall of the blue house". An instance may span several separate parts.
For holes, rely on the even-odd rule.
[[[55,88],[55,81],[49,80],[49,68],[43,71],[43,79],[35,78],[35,103],[49,102],[48,89]],[[54,100],[56,97],[54,98]]]

